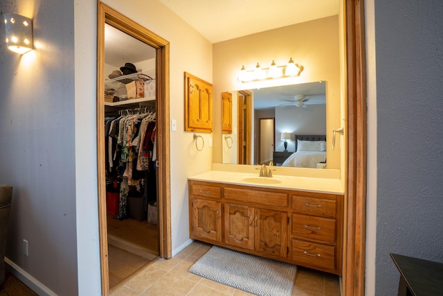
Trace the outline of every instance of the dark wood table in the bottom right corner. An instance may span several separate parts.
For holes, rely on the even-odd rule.
[[[443,263],[390,254],[400,272],[399,296],[443,295]]]

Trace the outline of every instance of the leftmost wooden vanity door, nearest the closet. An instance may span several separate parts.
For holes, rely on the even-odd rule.
[[[205,241],[221,242],[221,202],[192,200],[192,235]]]

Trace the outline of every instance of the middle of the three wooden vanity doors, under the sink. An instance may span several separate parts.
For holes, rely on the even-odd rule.
[[[253,217],[254,211],[251,207],[225,204],[225,242],[229,245],[253,250]]]

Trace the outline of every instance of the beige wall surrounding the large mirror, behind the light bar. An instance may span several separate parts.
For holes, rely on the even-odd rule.
[[[214,162],[222,162],[221,92],[228,90],[325,80],[327,139],[332,139],[332,130],[341,125],[338,26],[338,16],[326,17],[213,44]],[[265,68],[272,60],[278,65],[287,64],[289,58],[304,67],[297,78],[252,83],[237,81],[242,65],[252,69],[260,62]],[[233,125],[236,124],[235,121]],[[340,147],[332,151],[332,141],[327,145],[328,168],[340,168]]]

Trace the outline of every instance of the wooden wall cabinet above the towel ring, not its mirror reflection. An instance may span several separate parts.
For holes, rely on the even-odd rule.
[[[213,132],[213,85],[185,72],[185,130]]]

